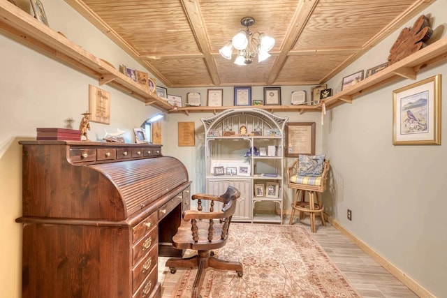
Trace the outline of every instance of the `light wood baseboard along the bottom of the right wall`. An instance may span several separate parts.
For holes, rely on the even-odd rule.
[[[349,232],[349,230],[346,230],[342,225],[340,225],[333,218],[331,218],[327,214],[325,214],[325,216],[326,216],[326,219],[330,222],[330,224],[334,228],[336,228],[337,230],[342,232],[342,234],[344,234],[346,237],[351,239],[351,241],[353,241],[358,247],[360,247],[362,249],[362,251],[365,251],[365,253],[367,253],[371,258],[376,260],[376,262],[378,262],[383,268],[388,270],[390,272],[390,274],[393,274],[393,276],[395,276],[395,278],[400,280],[410,290],[415,292],[416,295],[418,295],[419,297],[436,298],[434,295],[432,295],[432,293],[430,293],[425,288],[423,288],[421,285],[416,283],[416,281],[413,281],[413,279],[411,279],[409,276],[407,276],[399,268],[395,267],[395,265],[393,265],[388,260],[386,260],[386,258],[383,258],[382,255],[380,255],[379,253],[374,251],[372,248],[367,246],[367,244],[365,244],[365,242],[361,241],[356,236],[351,234],[351,232]]]

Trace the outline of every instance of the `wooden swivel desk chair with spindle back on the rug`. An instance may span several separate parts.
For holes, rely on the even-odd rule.
[[[175,273],[176,268],[198,267],[196,280],[193,284],[191,297],[200,297],[199,290],[205,277],[205,269],[212,267],[221,270],[234,270],[237,276],[243,274],[240,262],[230,262],[215,258],[212,249],[221,248],[228,240],[228,228],[231,218],[235,213],[236,200],[240,197],[240,192],[228,186],[223,195],[196,194],[192,200],[198,200],[198,211],[186,210],[177,234],[173,237],[173,246],[178,249],[193,249],[198,252],[191,258],[170,258],[166,261],[171,273]],[[202,211],[202,200],[209,200],[210,212]],[[214,212],[214,201],[222,202],[221,211]]]

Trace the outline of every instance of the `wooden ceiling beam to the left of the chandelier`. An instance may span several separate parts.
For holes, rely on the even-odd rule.
[[[210,73],[211,80],[214,85],[219,86],[221,82],[217,73],[216,63],[211,54],[210,40],[207,38],[205,23],[203,22],[198,0],[181,0],[181,2],[186,17],[188,18],[189,25],[191,26],[191,30],[196,37],[198,47],[203,53],[205,65],[207,66],[208,73]]]

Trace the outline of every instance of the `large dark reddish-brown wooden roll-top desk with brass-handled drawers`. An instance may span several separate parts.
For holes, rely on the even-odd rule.
[[[189,209],[160,145],[23,141],[22,297],[160,297],[159,239]]]

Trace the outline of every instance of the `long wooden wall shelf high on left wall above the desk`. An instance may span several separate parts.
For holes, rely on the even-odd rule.
[[[100,85],[109,84],[146,105],[154,105],[166,112],[173,109],[166,100],[143,89],[107,61],[95,57],[8,1],[0,1],[0,29],[82,73],[96,77]]]

